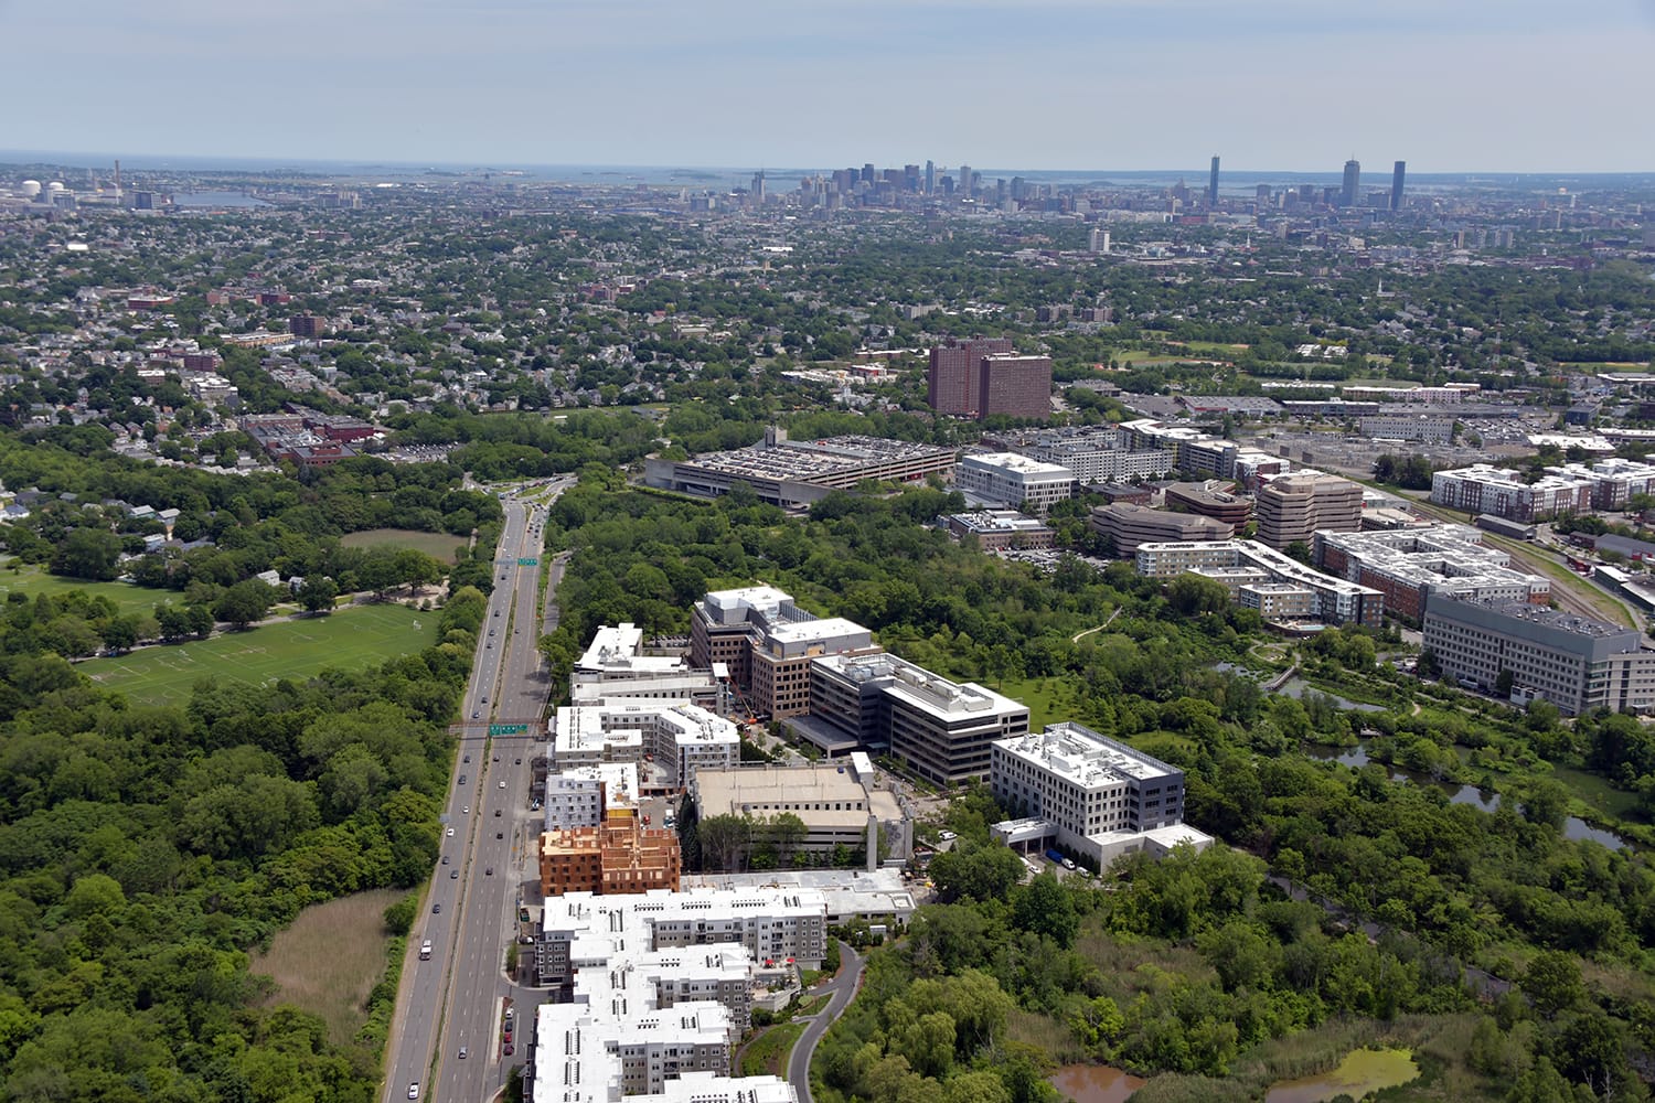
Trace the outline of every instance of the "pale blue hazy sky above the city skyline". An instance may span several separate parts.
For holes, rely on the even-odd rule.
[[[0,0],[0,147],[1655,169],[1655,0]]]

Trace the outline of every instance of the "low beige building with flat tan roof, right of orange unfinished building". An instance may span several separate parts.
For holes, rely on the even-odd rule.
[[[852,752],[814,766],[743,766],[698,771],[690,782],[695,815],[736,815],[766,820],[783,812],[799,817],[801,852],[826,855],[839,847],[861,860],[867,828],[874,824],[885,857],[905,862],[914,853],[909,817],[897,795],[885,789],[872,759]],[[786,863],[786,855],[778,855]]]

